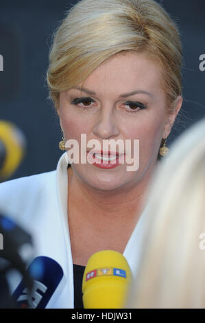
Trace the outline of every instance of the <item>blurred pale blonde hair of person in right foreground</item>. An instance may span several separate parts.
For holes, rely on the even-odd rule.
[[[149,197],[126,307],[205,308],[205,119],[172,145]]]

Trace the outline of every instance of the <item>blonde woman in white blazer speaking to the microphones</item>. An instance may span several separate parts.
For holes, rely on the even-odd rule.
[[[182,106],[181,65],[177,27],[152,0],[82,0],[53,35],[47,83],[67,152],[57,170],[0,190],[3,212],[32,232],[36,254],[51,256],[64,271],[47,307],[73,307],[73,264],[75,279],[76,266],[83,272],[94,252],[121,252],[135,270],[147,188]],[[92,152],[86,146],[95,164],[68,158],[67,142],[81,147],[82,134],[86,144],[100,144]],[[112,154],[102,145],[108,140],[130,140],[131,148]],[[73,152],[82,157],[82,149]],[[130,159],[120,163],[117,155],[137,158],[137,169],[128,171]]]

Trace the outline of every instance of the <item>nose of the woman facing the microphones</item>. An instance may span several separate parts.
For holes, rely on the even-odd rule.
[[[93,134],[101,139],[108,139],[119,135],[116,115],[111,109],[102,109],[93,126]]]

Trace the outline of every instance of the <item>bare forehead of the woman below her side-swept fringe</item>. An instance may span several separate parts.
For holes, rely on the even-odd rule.
[[[99,65],[80,85],[93,91],[129,92],[135,89],[162,91],[158,63],[145,54],[126,53],[112,56]],[[117,93],[116,93],[117,94]]]

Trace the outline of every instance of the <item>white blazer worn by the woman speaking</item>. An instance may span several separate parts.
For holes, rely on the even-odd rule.
[[[32,235],[34,258],[48,256],[62,267],[64,276],[47,304],[47,309],[73,309],[73,260],[67,221],[67,161],[62,154],[56,170],[0,183],[0,214],[12,217]],[[123,255],[136,275],[141,256],[145,221],[143,214],[128,241]],[[29,264],[27,264],[29,265]],[[10,281],[13,292],[21,282]]]

